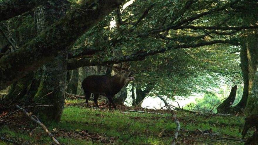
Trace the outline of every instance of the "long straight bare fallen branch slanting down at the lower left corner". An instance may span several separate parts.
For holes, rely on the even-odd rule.
[[[47,127],[40,122],[40,120],[38,119],[38,117],[36,117],[35,115],[32,115],[32,113],[28,113],[25,109],[21,108],[20,106],[16,105],[16,107],[20,110],[22,110],[22,112],[24,114],[26,114],[28,117],[30,117],[31,120],[33,120],[34,122],[38,123],[43,129],[44,131],[47,133],[48,136],[50,136],[52,138],[52,140],[56,143],[56,144],[60,144],[57,139],[53,136],[53,134],[51,134],[51,132],[48,131]]]

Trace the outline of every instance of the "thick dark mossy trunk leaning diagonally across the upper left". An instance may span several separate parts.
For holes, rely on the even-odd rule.
[[[93,2],[93,3],[92,3]],[[35,71],[53,60],[58,52],[72,45],[79,36],[89,30],[104,16],[119,6],[123,0],[87,1],[80,9],[92,9],[87,13],[70,11],[60,21],[51,25],[28,42],[23,48],[0,59],[0,89]]]

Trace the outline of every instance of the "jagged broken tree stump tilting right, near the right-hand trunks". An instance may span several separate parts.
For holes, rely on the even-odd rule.
[[[227,99],[223,101],[218,107],[218,113],[232,113],[231,105],[234,103],[237,93],[237,85],[231,88],[230,94]]]

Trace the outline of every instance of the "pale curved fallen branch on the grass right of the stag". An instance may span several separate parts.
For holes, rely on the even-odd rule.
[[[179,120],[176,118],[176,113],[170,108],[169,104],[167,103],[167,101],[160,95],[158,95],[158,97],[165,103],[165,105],[167,106],[167,109],[172,113],[174,121],[176,123],[176,131],[174,133],[174,139],[172,140],[172,142],[170,143],[171,145],[176,145],[176,140],[177,140],[177,136],[179,134],[180,131],[180,122]],[[179,105],[179,104],[178,104]]]

